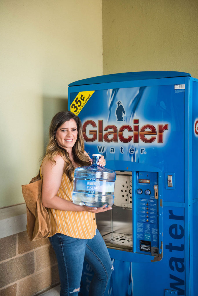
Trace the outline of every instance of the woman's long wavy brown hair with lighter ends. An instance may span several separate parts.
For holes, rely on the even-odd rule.
[[[70,119],[74,119],[76,122],[78,136],[76,143],[72,147],[72,156],[75,163],[78,163],[79,166],[89,165],[89,158],[84,154],[84,138],[82,135],[82,123],[78,116],[76,116],[71,111],[61,111],[58,112],[51,121],[49,127],[49,143],[46,149],[46,156],[53,163],[56,163],[54,157],[59,154],[65,160],[65,167],[63,173],[65,173],[70,181],[73,181],[72,173],[74,171],[74,165],[72,164],[68,152],[60,147],[56,142],[55,134],[56,131],[62,124]]]

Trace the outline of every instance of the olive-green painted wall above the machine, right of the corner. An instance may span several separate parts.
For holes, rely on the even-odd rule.
[[[197,0],[103,0],[103,74],[169,70],[198,78]]]

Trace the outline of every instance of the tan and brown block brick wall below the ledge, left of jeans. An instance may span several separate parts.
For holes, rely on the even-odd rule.
[[[0,296],[38,295],[59,281],[49,239],[30,242],[26,231],[0,239]]]

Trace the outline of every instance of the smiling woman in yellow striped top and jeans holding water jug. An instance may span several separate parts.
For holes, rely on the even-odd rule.
[[[70,111],[57,113],[49,128],[49,144],[41,164],[42,202],[49,208],[51,233],[60,276],[60,296],[78,295],[84,258],[94,276],[90,296],[104,295],[113,270],[111,258],[95,223],[95,214],[111,210],[72,202],[74,168],[89,165],[84,151],[82,123]],[[104,166],[104,157],[98,164]]]

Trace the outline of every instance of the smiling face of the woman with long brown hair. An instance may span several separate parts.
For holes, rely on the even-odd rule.
[[[57,129],[55,134],[58,145],[66,149],[69,153],[71,153],[72,147],[76,143],[77,136],[78,129],[74,119],[65,121],[62,126]]]

